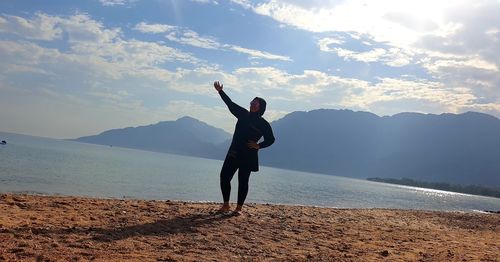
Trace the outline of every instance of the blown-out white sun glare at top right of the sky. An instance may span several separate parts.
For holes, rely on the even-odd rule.
[[[447,13],[465,1],[346,1],[329,12],[330,27],[372,35],[375,40],[409,46],[425,34],[446,35],[457,25]],[[451,30],[451,31],[450,31]]]

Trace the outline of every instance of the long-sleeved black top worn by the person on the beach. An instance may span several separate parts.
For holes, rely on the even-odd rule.
[[[233,158],[240,163],[240,167],[247,168],[250,171],[258,171],[258,150],[249,148],[247,143],[249,141],[257,143],[261,137],[264,137],[264,141],[259,143],[261,149],[274,143],[275,139],[271,125],[262,118],[265,107],[261,108],[259,112],[252,113],[231,101],[224,91],[219,91],[219,94],[229,111],[238,118],[226,160],[228,160],[228,157]]]

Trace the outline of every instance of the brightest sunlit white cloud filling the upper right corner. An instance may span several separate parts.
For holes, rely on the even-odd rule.
[[[418,51],[479,55],[500,61],[500,2],[496,0],[367,2],[233,1],[254,12],[312,32],[346,32],[386,43],[406,54]],[[322,50],[328,50],[325,39]],[[405,57],[395,65],[406,63]]]

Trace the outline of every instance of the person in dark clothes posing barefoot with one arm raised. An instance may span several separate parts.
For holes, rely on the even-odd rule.
[[[248,181],[250,173],[259,171],[258,151],[274,143],[274,135],[271,125],[262,118],[266,111],[266,101],[260,97],[250,102],[250,111],[235,104],[222,91],[223,85],[219,81],[214,82],[214,87],[226,103],[229,111],[238,119],[233,134],[233,141],[222,165],[220,172],[220,188],[224,204],[219,211],[228,212],[229,196],[231,194],[231,179],[238,170],[238,205],[234,211],[239,215],[243,203],[248,194]],[[261,137],[264,141],[257,143]]]

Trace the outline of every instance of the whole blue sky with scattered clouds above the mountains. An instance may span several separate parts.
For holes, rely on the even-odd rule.
[[[2,1],[0,130],[76,138],[319,108],[500,117],[500,0]]]

